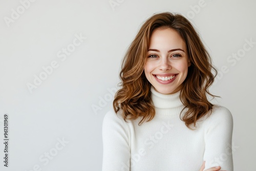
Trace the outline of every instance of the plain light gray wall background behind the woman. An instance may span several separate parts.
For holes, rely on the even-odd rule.
[[[0,1],[0,169],[101,170],[102,119],[112,108],[109,90],[115,91],[119,82],[121,59],[144,20],[169,11],[187,16],[214,65],[220,71],[226,66],[211,92],[222,97],[216,103],[233,115],[233,143],[239,146],[233,151],[234,170],[253,170],[256,44],[242,49],[246,39],[256,42],[256,1],[113,2],[112,8],[108,0],[37,0],[23,11],[19,1]],[[5,18],[17,8],[22,14],[8,27]],[[58,51],[72,48],[76,34],[87,38],[62,61]],[[240,60],[229,58],[237,53]],[[27,83],[52,61],[58,67],[30,93]],[[10,125],[8,168],[2,161],[5,113]],[[62,149],[56,149],[58,138],[68,141]],[[49,152],[52,159],[46,164],[40,157]]]

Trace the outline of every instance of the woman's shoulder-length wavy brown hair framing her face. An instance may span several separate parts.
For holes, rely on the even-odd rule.
[[[211,114],[214,105],[208,101],[207,94],[217,97],[208,91],[209,86],[214,82],[217,70],[211,65],[210,55],[198,33],[180,14],[169,12],[155,14],[142,25],[123,58],[119,74],[121,89],[115,95],[114,110],[116,113],[120,111],[124,120],[141,117],[139,124],[154,118],[155,108],[151,99],[151,83],[145,77],[144,66],[151,35],[159,28],[176,30],[186,44],[191,66],[188,67],[188,74],[182,83],[180,93],[180,99],[185,106],[182,111],[187,109],[181,120],[191,129],[190,124],[196,126],[198,119],[207,113]]]

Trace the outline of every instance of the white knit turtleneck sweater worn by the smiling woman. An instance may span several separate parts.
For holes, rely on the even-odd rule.
[[[180,119],[180,92],[165,95],[153,87],[151,92],[156,110],[151,121],[139,126],[141,118],[125,122],[114,111],[105,115],[103,171],[199,171],[203,161],[205,169],[220,165],[221,170],[233,171],[233,120],[228,109],[214,106],[211,115],[189,130]]]

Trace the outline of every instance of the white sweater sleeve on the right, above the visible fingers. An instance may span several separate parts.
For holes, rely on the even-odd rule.
[[[221,170],[233,171],[233,118],[230,111],[218,106],[207,118],[205,126],[205,170],[221,166]]]

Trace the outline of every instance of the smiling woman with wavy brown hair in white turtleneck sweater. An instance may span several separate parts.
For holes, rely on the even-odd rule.
[[[102,169],[232,171],[232,116],[207,99],[214,97],[212,70],[186,18],[166,12],[147,19],[103,120]]]

